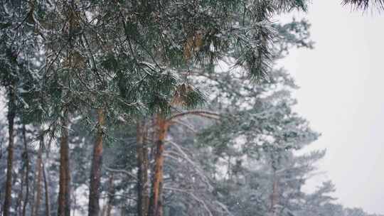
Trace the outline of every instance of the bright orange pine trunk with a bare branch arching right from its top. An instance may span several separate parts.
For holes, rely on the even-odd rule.
[[[164,166],[164,140],[168,130],[166,120],[158,115],[156,119],[157,126],[157,141],[156,141],[156,155],[154,165],[154,175],[152,180],[152,192],[149,206],[150,216],[163,215],[163,200],[161,198],[163,190],[163,166]]]

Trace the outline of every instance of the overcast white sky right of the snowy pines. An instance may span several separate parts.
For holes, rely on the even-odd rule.
[[[293,50],[282,65],[301,87],[297,111],[322,133],[312,145],[327,148],[321,178],[341,204],[384,214],[384,13],[340,2],[311,4],[315,49]]]

